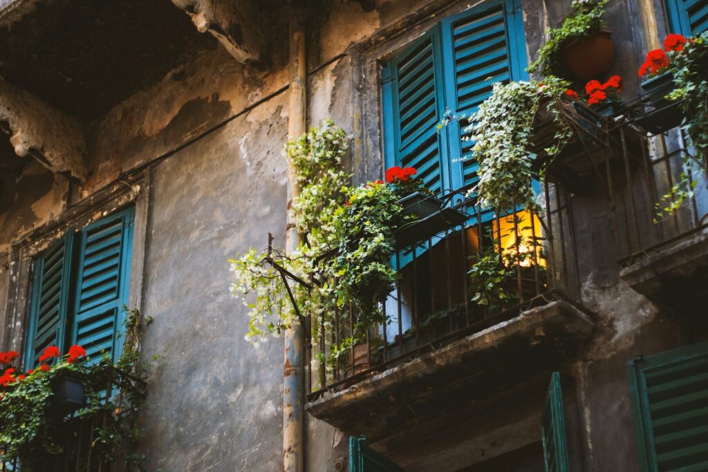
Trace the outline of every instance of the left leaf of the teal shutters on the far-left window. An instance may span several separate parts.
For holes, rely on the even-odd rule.
[[[35,367],[48,346],[57,346],[64,352],[73,244],[74,230],[70,229],[33,264],[25,367]]]

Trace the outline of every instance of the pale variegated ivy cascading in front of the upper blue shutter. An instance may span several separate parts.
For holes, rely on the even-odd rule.
[[[468,139],[476,141],[474,158],[479,162],[479,183],[476,192],[482,205],[494,209],[511,209],[521,205],[536,209],[531,187],[550,161],[559,154],[571,137],[571,129],[559,110],[568,83],[549,76],[543,82],[520,81],[493,85],[492,95],[479,105],[467,127]],[[549,159],[537,163],[532,152],[534,117],[539,104],[545,103],[557,125],[555,142],[544,151]]]

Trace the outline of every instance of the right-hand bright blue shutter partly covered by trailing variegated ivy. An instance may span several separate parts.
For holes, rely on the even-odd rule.
[[[491,96],[492,84],[528,79],[521,0],[486,1],[442,21],[447,109],[469,117]],[[455,188],[478,180],[467,120],[447,126]],[[486,217],[489,219],[489,215]]]

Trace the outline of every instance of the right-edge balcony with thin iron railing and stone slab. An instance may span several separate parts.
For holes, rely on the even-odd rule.
[[[692,156],[695,150],[680,128],[648,136],[624,122],[619,132],[643,143],[639,153],[624,150],[623,166],[612,176],[620,275],[676,316],[698,314],[697,306],[708,302],[706,163]],[[693,191],[675,211],[661,211],[667,206],[664,195],[682,173]],[[678,202],[675,197],[670,201]]]

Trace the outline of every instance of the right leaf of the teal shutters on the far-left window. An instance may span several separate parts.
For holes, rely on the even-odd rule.
[[[120,356],[130,281],[130,253],[135,208],[100,219],[79,234],[72,343],[98,358]]]

